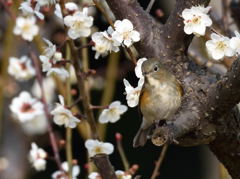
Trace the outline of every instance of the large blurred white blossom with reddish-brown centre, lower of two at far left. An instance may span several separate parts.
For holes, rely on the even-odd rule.
[[[18,97],[13,98],[10,110],[20,122],[44,115],[43,104],[36,98],[32,98],[27,91],[22,91]]]

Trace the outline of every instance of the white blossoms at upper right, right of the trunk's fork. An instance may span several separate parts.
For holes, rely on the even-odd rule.
[[[193,6],[190,9],[184,9],[182,17],[184,19],[184,32],[188,35],[203,36],[206,27],[212,25],[212,20],[208,15],[211,7]],[[232,57],[239,55],[240,35],[235,31],[235,37],[231,39],[221,34],[212,33],[211,39],[206,42],[206,48],[209,55],[214,60],[220,60],[224,56]]]

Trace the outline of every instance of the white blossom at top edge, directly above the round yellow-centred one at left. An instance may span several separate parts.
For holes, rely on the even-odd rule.
[[[19,9],[22,11],[25,16],[36,15],[39,19],[43,20],[44,15],[40,12],[40,7],[33,8],[32,0],[24,1],[20,4]]]

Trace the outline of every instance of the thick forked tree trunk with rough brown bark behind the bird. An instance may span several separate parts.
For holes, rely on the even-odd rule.
[[[173,143],[210,149],[234,179],[240,178],[239,111],[240,60],[220,80],[186,55],[193,36],[183,31],[183,9],[209,0],[177,0],[166,24],[158,24],[135,0],[106,0],[117,19],[132,21],[141,34],[136,45],[141,57],[157,57],[181,81],[183,103],[174,121],[155,130],[156,145]]]

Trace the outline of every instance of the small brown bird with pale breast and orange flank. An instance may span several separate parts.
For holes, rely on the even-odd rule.
[[[159,59],[143,62],[144,85],[139,99],[143,114],[141,127],[136,134],[133,147],[144,146],[153,124],[160,120],[171,120],[181,105],[183,89],[173,74],[168,72]]]

